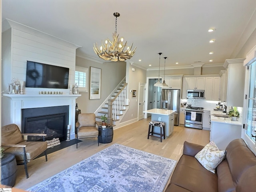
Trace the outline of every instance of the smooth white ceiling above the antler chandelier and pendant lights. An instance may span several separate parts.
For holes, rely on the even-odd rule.
[[[137,47],[126,61],[143,68],[158,68],[158,52],[163,53],[161,67],[163,57],[166,67],[223,64],[235,58],[255,10],[256,0],[2,0],[2,20],[81,46],[79,55],[98,61],[104,60],[93,45],[112,39],[113,13],[119,12],[117,33]],[[209,28],[216,30],[208,32]],[[216,41],[209,43],[211,39]]]

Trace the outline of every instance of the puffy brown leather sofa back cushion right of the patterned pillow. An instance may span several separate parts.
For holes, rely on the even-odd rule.
[[[242,139],[231,141],[226,147],[226,159],[235,184],[241,175],[252,166],[256,165],[255,154],[247,147]]]

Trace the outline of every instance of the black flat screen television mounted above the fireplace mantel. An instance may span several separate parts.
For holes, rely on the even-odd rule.
[[[26,87],[68,88],[69,68],[27,61]]]

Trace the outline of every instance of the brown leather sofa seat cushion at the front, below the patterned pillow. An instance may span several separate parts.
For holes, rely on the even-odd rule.
[[[193,156],[182,155],[172,174],[171,183],[193,192],[217,192],[218,178]]]

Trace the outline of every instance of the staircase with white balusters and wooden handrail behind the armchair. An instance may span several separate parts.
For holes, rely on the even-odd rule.
[[[126,93],[127,93],[127,83],[125,78],[120,82],[120,84],[114,89],[114,91],[108,96],[104,103],[96,110],[96,121],[101,124],[101,116],[106,115],[108,118],[107,124],[116,126],[120,123],[120,120],[123,118],[124,114],[128,109],[126,105]]]

